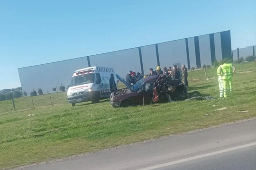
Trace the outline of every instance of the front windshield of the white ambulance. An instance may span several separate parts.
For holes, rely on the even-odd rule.
[[[94,83],[94,73],[72,77],[70,86],[84,85],[88,83]]]

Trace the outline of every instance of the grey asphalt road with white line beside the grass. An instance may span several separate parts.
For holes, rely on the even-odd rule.
[[[23,170],[256,170],[256,119]]]

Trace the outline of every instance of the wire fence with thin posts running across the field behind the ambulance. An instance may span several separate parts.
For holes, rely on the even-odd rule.
[[[240,64],[234,64],[237,72],[248,72],[256,70],[256,61],[244,62]],[[217,77],[217,68],[200,68],[195,70],[189,70],[188,80],[197,81],[210,77]],[[123,86],[125,87],[125,86]],[[67,104],[66,93],[48,93],[44,95],[29,96],[14,98],[8,101],[0,102],[0,114],[11,111],[27,110],[34,108],[47,107],[51,105],[64,105]]]

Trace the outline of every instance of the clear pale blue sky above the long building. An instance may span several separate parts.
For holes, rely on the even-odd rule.
[[[226,30],[256,45],[256,0],[0,0],[0,89],[18,68]]]

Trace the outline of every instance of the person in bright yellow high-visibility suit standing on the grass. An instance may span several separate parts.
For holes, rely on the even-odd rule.
[[[224,97],[228,97],[228,90],[231,94],[233,92],[233,75],[235,72],[236,68],[231,63],[224,63],[217,70],[217,75],[222,80]]]

